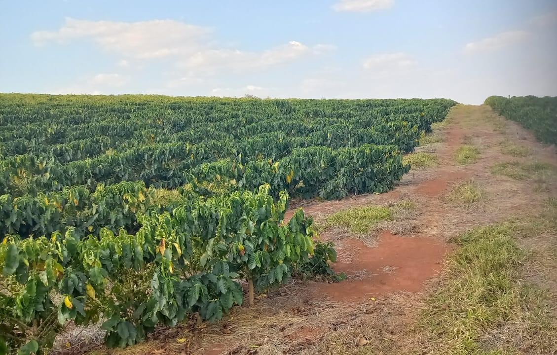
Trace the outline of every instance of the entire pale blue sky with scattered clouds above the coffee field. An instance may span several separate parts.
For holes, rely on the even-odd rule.
[[[0,0],[0,92],[557,96],[557,1]]]

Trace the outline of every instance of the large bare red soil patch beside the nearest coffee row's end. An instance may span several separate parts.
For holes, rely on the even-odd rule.
[[[312,298],[353,301],[376,297],[391,291],[418,292],[424,282],[441,270],[441,261],[452,248],[431,238],[405,237],[384,231],[375,248],[358,239],[345,239],[343,244],[354,247],[353,260],[333,264],[336,272],[344,272],[347,280],[340,283],[309,284]],[[368,273],[361,278],[350,275]]]

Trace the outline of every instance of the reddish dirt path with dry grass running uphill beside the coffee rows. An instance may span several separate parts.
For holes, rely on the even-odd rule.
[[[488,107],[459,105],[437,132],[443,142],[432,154],[437,155],[439,165],[412,170],[393,191],[303,205],[319,223],[342,209],[411,199],[417,205],[417,230],[411,236],[378,230],[363,238],[341,230],[325,231],[322,238],[334,240],[338,249],[334,269],[345,272],[347,280],[291,283],[263,295],[254,307],[234,308],[227,321],[192,333],[188,333],[191,329],[172,330],[166,337],[169,340],[131,347],[126,354],[154,348],[168,354],[351,354],[359,353],[362,339],[375,349],[373,353],[413,353],[409,344],[420,339],[412,338],[409,329],[418,305],[435,288],[443,259],[455,248],[449,240],[474,226],[540,208],[547,196],[557,196],[553,177],[519,181],[491,173],[491,167],[501,161],[534,159],[557,166],[557,154],[554,147],[538,144],[520,126]],[[531,154],[505,155],[501,143],[507,141],[517,142]],[[477,146],[480,156],[473,164],[458,165],[455,154],[465,143]],[[448,201],[455,186],[466,181],[481,187],[483,201],[472,206]],[[183,337],[192,342],[172,340]]]

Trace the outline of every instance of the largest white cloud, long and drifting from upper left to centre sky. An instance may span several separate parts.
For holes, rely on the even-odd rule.
[[[120,67],[140,67],[146,60],[168,60],[179,68],[177,77],[196,81],[218,71],[250,71],[321,55],[335,50],[328,44],[307,46],[290,41],[260,52],[217,47],[211,29],[173,20],[140,22],[86,21],[66,18],[56,31],[37,31],[31,40],[37,46],[90,39],[107,52],[119,55]],[[174,80],[175,81],[175,80]]]

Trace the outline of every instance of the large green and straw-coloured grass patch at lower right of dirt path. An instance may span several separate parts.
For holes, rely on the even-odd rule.
[[[556,214],[553,199],[538,218],[473,229],[454,240],[460,248],[447,260],[440,287],[419,321],[434,353],[550,354],[557,349],[550,294],[527,282],[532,253],[517,241],[540,223],[556,233],[557,225],[546,222]]]

